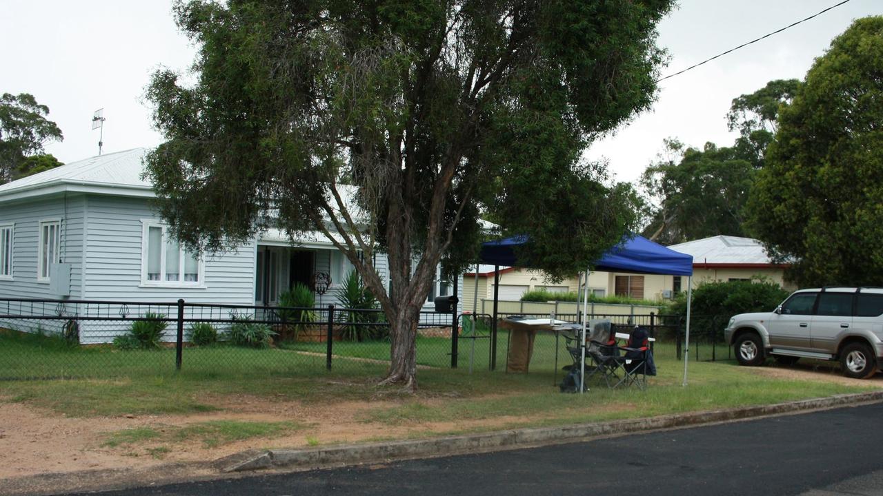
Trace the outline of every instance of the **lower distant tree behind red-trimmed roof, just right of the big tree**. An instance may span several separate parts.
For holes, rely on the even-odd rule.
[[[665,145],[640,179],[647,205],[658,206],[650,207],[644,235],[660,244],[745,236],[743,208],[755,176],[751,152],[713,143],[684,149],[676,139]]]

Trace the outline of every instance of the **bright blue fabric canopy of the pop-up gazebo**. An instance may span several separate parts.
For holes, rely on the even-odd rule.
[[[527,243],[526,236],[507,237],[481,245],[481,263],[495,266],[530,267],[519,263],[517,246]],[[692,275],[693,257],[669,250],[645,237],[626,237],[592,263],[592,270],[632,274]]]

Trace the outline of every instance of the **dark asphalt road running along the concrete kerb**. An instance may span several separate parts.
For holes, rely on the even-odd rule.
[[[883,495],[883,404],[484,455],[107,495]]]

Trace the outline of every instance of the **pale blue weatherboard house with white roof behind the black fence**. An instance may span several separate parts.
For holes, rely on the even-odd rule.
[[[182,249],[151,207],[146,153],[104,154],[0,185],[0,298],[275,305],[293,283],[327,272],[333,285],[321,303],[336,304],[334,289],[352,266],[318,233],[296,246],[269,229],[235,251]],[[389,281],[385,255],[376,256]],[[449,289],[436,280],[426,310]],[[109,339],[81,334],[82,342]]]

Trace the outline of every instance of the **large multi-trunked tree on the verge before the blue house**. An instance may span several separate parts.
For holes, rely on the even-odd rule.
[[[147,156],[162,215],[207,250],[270,226],[324,233],[389,319],[385,382],[415,387],[435,267],[474,263],[480,212],[528,234],[521,254],[555,276],[630,228],[630,195],[578,157],[649,107],[669,6],[179,2],[196,82],[159,71],[147,88],[168,139]]]

